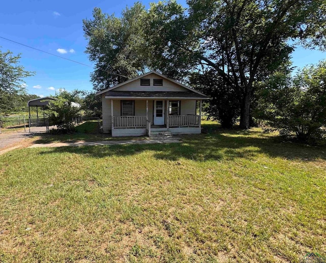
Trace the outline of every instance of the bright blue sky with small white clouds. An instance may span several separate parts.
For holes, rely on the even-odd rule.
[[[135,1],[11,0],[0,9],[0,36],[92,66],[85,54],[83,19],[92,18],[94,7],[120,15]],[[146,7],[149,2],[142,1]],[[185,5],[185,0],[178,1]],[[35,71],[25,79],[27,91],[37,95],[54,95],[59,88],[92,90],[92,68],[56,58],[42,52],[0,39],[2,50],[21,53],[21,65]],[[303,67],[326,58],[326,52],[298,47],[292,54],[293,66]]]

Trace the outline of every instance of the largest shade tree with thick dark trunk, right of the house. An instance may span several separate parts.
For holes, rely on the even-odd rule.
[[[240,127],[250,127],[255,83],[288,60],[289,40],[325,41],[324,0],[188,0],[151,4],[143,16],[149,67],[171,77],[213,70],[240,98]]]

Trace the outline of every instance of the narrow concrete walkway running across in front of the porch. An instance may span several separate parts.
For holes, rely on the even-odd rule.
[[[40,147],[63,147],[63,146],[98,146],[98,145],[122,145],[122,144],[154,144],[154,143],[180,143],[177,137],[150,138],[146,140],[129,140],[129,141],[101,141],[101,142],[74,142],[74,143],[37,143],[28,148]]]

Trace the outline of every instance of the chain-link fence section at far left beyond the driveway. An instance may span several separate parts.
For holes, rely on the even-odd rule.
[[[26,131],[28,117],[26,116],[0,116],[0,133],[13,131]]]

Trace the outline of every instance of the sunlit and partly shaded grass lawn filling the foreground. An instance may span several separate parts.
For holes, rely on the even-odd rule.
[[[223,130],[0,156],[0,261],[326,256],[326,149]]]

